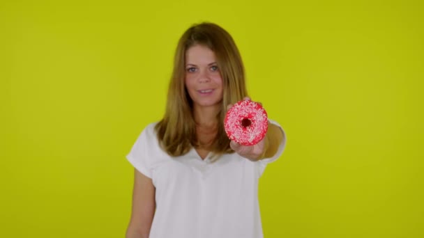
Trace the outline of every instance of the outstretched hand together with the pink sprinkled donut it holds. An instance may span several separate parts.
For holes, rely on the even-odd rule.
[[[242,157],[257,161],[266,150],[268,117],[262,104],[249,97],[236,104],[227,105],[225,132],[231,140],[230,147]]]

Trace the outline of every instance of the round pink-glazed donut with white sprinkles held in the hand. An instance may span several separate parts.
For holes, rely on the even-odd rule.
[[[241,145],[256,145],[268,130],[268,115],[261,104],[241,100],[227,111],[224,128],[230,140]]]

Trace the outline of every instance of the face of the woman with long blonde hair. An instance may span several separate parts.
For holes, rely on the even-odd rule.
[[[194,45],[185,51],[185,87],[195,106],[214,106],[222,100],[222,78],[215,53]]]

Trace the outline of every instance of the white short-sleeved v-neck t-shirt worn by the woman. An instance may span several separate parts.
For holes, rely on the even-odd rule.
[[[233,153],[211,163],[211,154],[202,159],[194,148],[170,157],[158,144],[155,125],[142,131],[126,156],[156,187],[149,238],[262,238],[258,180],[282,154],[285,137],[272,158],[252,162]]]

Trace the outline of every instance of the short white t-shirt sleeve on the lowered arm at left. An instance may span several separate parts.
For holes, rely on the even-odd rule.
[[[148,125],[137,137],[126,158],[140,173],[151,178],[151,158],[149,157],[149,142],[154,140],[153,125]]]

